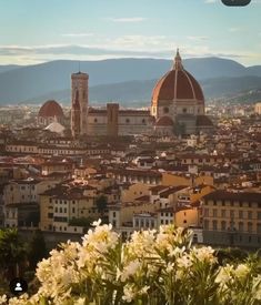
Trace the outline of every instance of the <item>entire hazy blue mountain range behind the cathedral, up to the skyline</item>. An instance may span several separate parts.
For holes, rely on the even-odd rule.
[[[155,80],[171,65],[172,61],[159,59],[80,62],[81,71],[90,75],[90,101],[117,100],[123,103],[150,101]],[[261,89],[261,65],[245,68],[220,58],[188,59],[183,65],[201,82],[205,98]],[[42,103],[48,99],[69,102],[70,75],[78,71],[78,61],[64,60],[28,67],[0,67],[0,104]]]

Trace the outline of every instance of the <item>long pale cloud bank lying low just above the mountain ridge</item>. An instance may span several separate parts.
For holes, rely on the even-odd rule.
[[[235,59],[244,64],[261,62],[257,52],[212,50],[205,44],[173,43],[164,35],[124,35],[103,40],[98,44],[0,45],[1,63],[32,64],[51,60],[104,60],[112,58],[173,59],[180,45],[181,57],[221,57]]]

